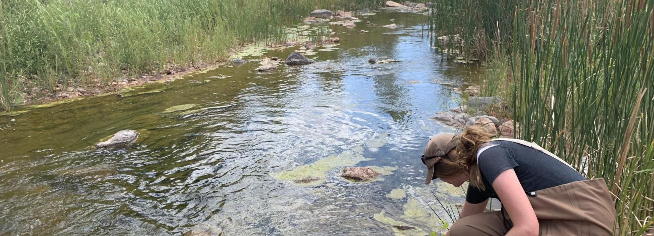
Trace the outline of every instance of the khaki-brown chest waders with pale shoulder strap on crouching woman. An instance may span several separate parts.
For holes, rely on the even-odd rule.
[[[509,138],[495,140],[512,141],[532,147],[570,166],[536,143]],[[530,192],[527,195],[538,218],[540,235],[613,235],[615,207],[604,179],[576,181]],[[508,213],[494,211],[457,220],[449,234],[451,236],[504,235],[511,226]]]

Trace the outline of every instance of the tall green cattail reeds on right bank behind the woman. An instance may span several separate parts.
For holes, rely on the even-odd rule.
[[[487,38],[504,40],[491,40],[488,48],[509,58],[513,87],[506,89],[513,93],[521,138],[542,144],[589,178],[606,180],[617,235],[651,230],[654,1],[498,2],[499,10],[481,7],[489,1],[470,3],[483,17],[447,33],[484,29]],[[434,18],[444,17],[435,10]],[[459,15],[450,16],[457,22]],[[496,29],[485,28],[490,20]],[[448,27],[433,22],[433,29]]]

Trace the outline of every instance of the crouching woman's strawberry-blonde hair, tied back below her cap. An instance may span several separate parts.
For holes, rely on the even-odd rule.
[[[483,181],[481,181],[481,172],[477,166],[477,151],[491,137],[492,134],[489,134],[483,126],[468,126],[459,134],[460,143],[456,148],[447,153],[447,157],[441,158],[434,166],[436,176],[439,178],[453,177],[460,171],[466,171],[470,176],[470,184],[485,190]]]

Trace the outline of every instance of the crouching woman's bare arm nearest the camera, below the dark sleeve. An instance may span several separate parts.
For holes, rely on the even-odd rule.
[[[538,235],[538,218],[515,171],[509,169],[500,173],[492,187],[513,222],[513,228],[506,235]]]

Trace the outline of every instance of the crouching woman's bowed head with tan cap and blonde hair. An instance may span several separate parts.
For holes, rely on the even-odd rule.
[[[483,189],[475,154],[479,150],[479,146],[489,141],[490,137],[492,135],[482,126],[469,126],[458,136],[453,134],[434,136],[427,144],[424,156],[438,155],[439,153],[434,151],[438,150],[441,151],[441,157],[431,161],[426,160],[428,173],[425,183],[429,183],[431,179],[441,178],[443,181],[457,186],[469,179],[473,186]],[[442,151],[447,151],[447,153],[442,153]]]

